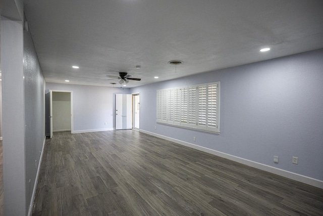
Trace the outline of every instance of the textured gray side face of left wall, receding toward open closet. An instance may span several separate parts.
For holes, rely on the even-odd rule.
[[[24,31],[24,75],[26,205],[29,208],[45,139],[45,80],[30,31]]]

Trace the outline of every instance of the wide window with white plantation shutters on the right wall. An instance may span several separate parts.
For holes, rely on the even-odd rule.
[[[220,82],[157,90],[158,123],[220,133]]]

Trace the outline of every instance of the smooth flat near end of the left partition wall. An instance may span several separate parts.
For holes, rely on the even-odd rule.
[[[1,17],[5,215],[25,215],[25,100],[21,21]]]

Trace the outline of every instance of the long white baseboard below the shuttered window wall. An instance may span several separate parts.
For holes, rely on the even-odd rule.
[[[226,158],[226,159],[238,162],[238,163],[242,163],[242,164],[257,168],[257,169],[261,169],[261,170],[264,170],[264,171],[267,171],[267,172],[271,172],[272,174],[276,174],[276,175],[279,175],[279,176],[282,176],[282,177],[285,177],[285,178],[288,178],[288,179],[292,179],[292,180],[295,180],[295,181],[298,181],[298,182],[302,182],[302,183],[305,183],[305,184],[308,184],[308,185],[323,189],[323,181],[318,180],[318,179],[313,179],[311,177],[296,174],[295,172],[287,171],[287,170],[284,170],[284,169],[279,169],[279,168],[269,166],[269,165],[265,165],[265,164],[262,164],[262,163],[258,163],[258,162],[252,161],[252,160],[247,160],[247,159],[244,159],[244,158],[241,158],[241,157],[237,157],[237,156],[230,155],[230,154],[223,153],[223,152],[219,152],[219,151],[216,151],[216,150],[213,150],[213,149],[198,146],[198,145],[195,145],[195,144],[192,144],[192,143],[177,140],[177,139],[174,139],[174,138],[171,138],[171,137],[166,137],[166,136],[163,136],[163,135],[159,135],[159,134],[155,134],[155,133],[152,133],[152,132],[144,131],[142,129],[140,129],[140,132],[145,133],[145,134],[149,134],[151,136],[158,137],[158,138],[161,138],[161,139],[164,139],[164,140],[168,140],[168,141],[171,141],[171,142],[183,145],[183,146],[187,146],[187,147],[190,147],[190,148],[193,148],[193,149],[197,149],[197,150],[200,150],[200,151],[203,151],[203,152],[207,152],[207,153],[219,156],[219,157],[223,157],[223,158]]]

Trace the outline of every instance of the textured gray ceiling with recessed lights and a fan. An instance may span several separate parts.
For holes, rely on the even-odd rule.
[[[141,78],[131,88],[323,48],[321,0],[26,0],[24,7],[47,82],[112,86],[106,75],[126,71]],[[171,60],[183,61],[176,73]]]

